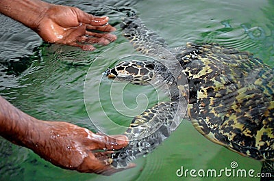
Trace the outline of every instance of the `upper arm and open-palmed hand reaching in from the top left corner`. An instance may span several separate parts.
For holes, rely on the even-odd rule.
[[[0,12],[33,29],[46,42],[79,46],[92,51],[94,46],[85,42],[106,45],[116,40],[116,36],[110,33],[87,31],[114,31],[114,27],[105,25],[108,17],[92,16],[78,8],[40,0],[0,0]]]

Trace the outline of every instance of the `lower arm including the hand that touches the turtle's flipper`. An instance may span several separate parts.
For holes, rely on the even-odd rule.
[[[0,135],[33,150],[58,167],[105,175],[121,170],[103,161],[108,152],[96,154],[92,151],[121,149],[128,143],[127,137],[122,135],[108,137],[67,122],[37,120],[1,96]]]

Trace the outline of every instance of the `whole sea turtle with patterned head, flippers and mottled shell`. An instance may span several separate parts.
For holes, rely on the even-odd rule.
[[[274,173],[273,68],[251,53],[217,44],[188,43],[171,51],[174,56],[170,58],[162,51],[164,40],[140,18],[125,18],[121,27],[137,51],[162,61],[123,61],[108,69],[107,76],[144,84],[160,75],[171,89],[171,101],[134,117],[125,132],[132,141],[112,154],[113,167],[126,167],[169,137],[177,126],[171,120],[183,97],[188,101],[188,117],[199,133],[229,150],[263,161],[262,171]],[[177,67],[166,68],[163,62],[176,62]]]

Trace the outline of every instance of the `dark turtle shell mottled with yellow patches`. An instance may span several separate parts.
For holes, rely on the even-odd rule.
[[[190,92],[197,90],[196,102],[188,107],[195,128],[230,150],[273,160],[273,69],[235,49],[208,44],[188,48],[199,50],[191,60],[185,52],[180,59]]]

